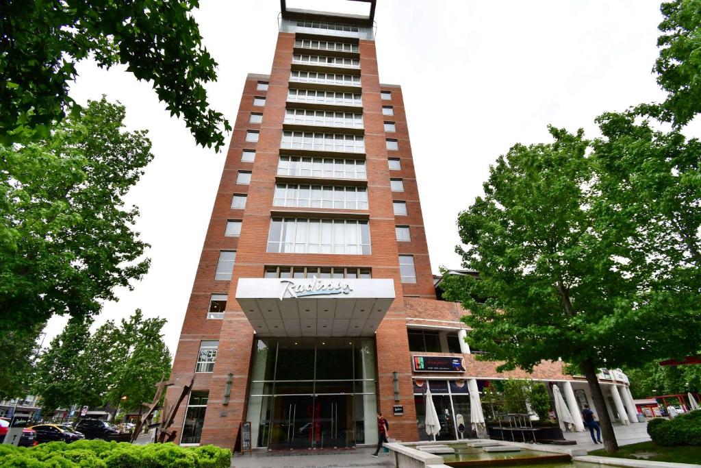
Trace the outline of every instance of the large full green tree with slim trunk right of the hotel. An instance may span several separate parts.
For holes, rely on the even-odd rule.
[[[701,196],[698,178],[682,189],[671,170],[695,171],[683,162],[698,154],[697,142],[646,132],[631,114],[605,114],[599,125],[604,137],[595,142],[550,128],[554,142],[515,145],[498,158],[484,197],[458,218],[458,253],[479,277],[448,276],[443,285],[444,297],[470,309],[470,345],[504,361],[499,370],[575,364],[613,451],[597,368],[695,352],[701,337],[695,241],[682,235],[697,226]],[[674,215],[682,225],[662,234]]]

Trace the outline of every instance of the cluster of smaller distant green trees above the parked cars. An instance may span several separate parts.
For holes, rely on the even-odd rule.
[[[39,359],[34,391],[43,408],[77,403],[138,410],[151,401],[156,383],[170,375],[164,324],[165,319],[144,319],[139,309],[120,326],[107,321],[92,335],[89,322],[69,321]]]

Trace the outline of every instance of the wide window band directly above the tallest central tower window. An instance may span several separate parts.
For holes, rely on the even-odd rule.
[[[273,206],[367,210],[367,188],[278,184],[275,185]]]

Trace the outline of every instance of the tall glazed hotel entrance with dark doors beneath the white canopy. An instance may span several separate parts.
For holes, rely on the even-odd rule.
[[[247,420],[275,450],[376,443],[372,338],[257,340]]]

